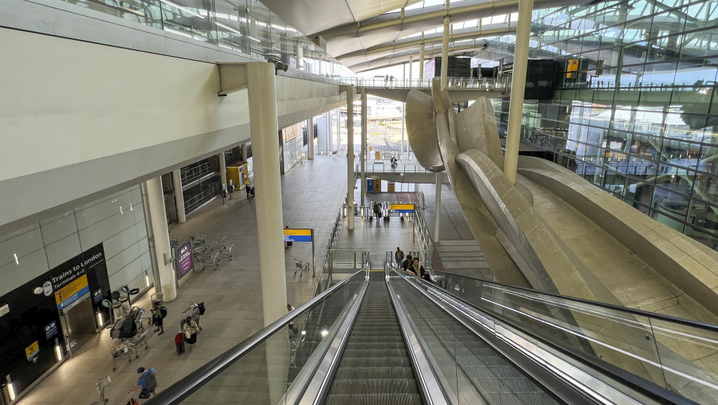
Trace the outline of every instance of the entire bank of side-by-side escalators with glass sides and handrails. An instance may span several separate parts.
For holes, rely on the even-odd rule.
[[[649,349],[667,338],[715,344],[714,326],[444,276],[447,290],[366,262],[152,403],[695,404],[718,394],[714,376]]]

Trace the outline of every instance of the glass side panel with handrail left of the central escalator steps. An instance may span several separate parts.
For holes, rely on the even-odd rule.
[[[294,404],[350,304],[368,267],[330,287],[218,358],[172,384],[152,404]],[[305,367],[306,366],[306,367]],[[299,393],[299,394],[298,394]]]

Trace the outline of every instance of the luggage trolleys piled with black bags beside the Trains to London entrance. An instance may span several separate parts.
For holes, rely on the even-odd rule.
[[[117,370],[117,362],[120,358],[127,358],[131,363],[132,354],[134,354],[134,358],[139,358],[139,348],[141,346],[144,346],[145,350],[149,348],[147,344],[149,328],[145,328],[142,322],[145,315],[144,308],[133,307],[129,315],[117,320],[112,330],[110,330],[111,338],[121,340],[121,343],[111,349],[114,361],[112,371]]]

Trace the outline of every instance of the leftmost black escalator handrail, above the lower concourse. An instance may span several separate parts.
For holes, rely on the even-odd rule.
[[[177,381],[176,383],[173,383],[171,386],[169,386],[167,389],[160,391],[157,396],[154,396],[151,399],[151,404],[180,404],[182,401],[187,399],[188,396],[197,391],[197,389],[200,389],[200,387],[204,386],[205,383],[208,383],[208,381],[210,381],[212,378],[224,371],[226,368],[232,366],[234,363],[239,361],[253,348],[256,348],[266,339],[271,337],[271,335],[274,335],[274,333],[279,332],[286,325],[289,325],[289,322],[291,322],[295,318],[299,318],[299,316],[304,314],[304,311],[309,310],[317,303],[325,300],[326,297],[337,292],[337,290],[339,290],[343,285],[347,284],[350,280],[353,280],[353,278],[360,272],[366,272],[367,270],[368,267],[354,272],[352,275],[350,275],[350,277],[347,277],[341,282],[338,282],[336,285],[333,285],[329,289],[307,301],[296,310],[293,310],[291,313],[284,315],[283,317],[274,321],[262,330],[259,330],[254,335],[251,335],[249,338],[246,338],[246,340],[243,340],[237,346],[230,348],[228,351],[225,351],[225,353],[220,354],[220,356],[209,361],[204,366],[201,366],[200,368],[197,368],[197,370],[192,371],[192,373],[190,373],[189,375],[185,376],[184,378],[181,378],[180,381]]]

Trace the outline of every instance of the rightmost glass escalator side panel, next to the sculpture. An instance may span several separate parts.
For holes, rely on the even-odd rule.
[[[432,270],[439,285],[543,342],[709,404],[718,398],[718,326]]]

